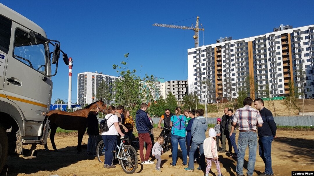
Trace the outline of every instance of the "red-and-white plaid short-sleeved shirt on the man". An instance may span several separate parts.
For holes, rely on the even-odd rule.
[[[249,105],[237,109],[232,121],[238,123],[239,130],[256,130],[256,125],[263,123],[261,114]]]

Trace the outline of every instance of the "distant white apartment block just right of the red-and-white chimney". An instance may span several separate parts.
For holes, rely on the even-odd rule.
[[[105,75],[100,73],[84,72],[78,73],[78,88],[77,88],[77,98],[78,104],[84,106],[85,104],[90,104],[96,101],[96,91],[100,86],[102,81],[108,85],[108,91],[113,95],[113,85],[116,79],[119,77]],[[104,100],[106,101],[106,100]],[[106,102],[112,103],[112,102]]]

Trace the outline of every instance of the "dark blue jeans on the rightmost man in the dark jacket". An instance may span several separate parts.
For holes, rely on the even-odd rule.
[[[258,139],[259,156],[265,163],[265,173],[269,175],[273,173],[271,156],[273,139],[273,136],[262,136]]]

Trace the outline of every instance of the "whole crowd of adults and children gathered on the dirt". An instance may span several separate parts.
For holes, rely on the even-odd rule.
[[[203,170],[208,176],[212,162],[216,164],[218,176],[221,176],[220,163],[218,160],[219,153],[229,153],[230,156],[237,160],[236,173],[238,176],[243,175],[243,162],[245,151],[249,148],[249,160],[247,164],[247,176],[253,175],[253,170],[256,161],[257,143],[259,147],[259,155],[265,163],[265,171],[260,176],[273,175],[271,163],[271,143],[276,138],[276,123],[274,122],[272,113],[264,107],[263,99],[257,98],[253,100],[247,97],[243,101],[243,108],[233,109],[225,108],[224,115],[217,118],[217,124],[214,128],[208,130],[208,138],[206,131],[208,128],[207,120],[203,116],[204,110],[184,110],[180,107],[175,109],[175,113],[171,113],[169,109],[165,109],[158,123],[158,128],[161,128],[161,122],[164,121],[164,127],[170,130],[172,161],[170,166],[176,167],[178,146],[180,145],[182,153],[181,165],[186,166],[185,171],[193,171],[194,163],[198,164],[197,169]],[[157,159],[156,170],[161,172],[161,155],[164,153],[162,144],[164,143],[164,134],[167,133],[165,128],[160,133],[154,143],[153,120],[149,118],[146,112],[148,105],[142,103],[140,109],[136,112],[136,121],[134,124],[133,117],[130,112],[124,110],[123,106],[108,107],[108,114],[105,116],[109,131],[102,133],[102,138],[105,144],[105,163],[104,168],[114,168],[112,164],[113,153],[116,150],[120,136],[127,135],[132,139],[134,125],[138,131],[139,138],[139,153],[142,164],[154,164],[150,160],[150,156]],[[95,155],[96,147],[96,114],[98,109],[89,114],[88,127],[88,147],[87,155]],[[111,127],[113,126],[113,127]],[[91,129],[90,129],[91,128]],[[236,129],[239,130],[238,143],[236,144]],[[98,130],[98,128],[97,128]],[[257,141],[257,135],[259,137]],[[226,140],[228,141],[228,150],[226,150]],[[144,144],[146,153],[144,155]],[[221,147],[219,145],[221,144]],[[233,153],[232,153],[233,148]],[[206,166],[207,163],[207,166]]]

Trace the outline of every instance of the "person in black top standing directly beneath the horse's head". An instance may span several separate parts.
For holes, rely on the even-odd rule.
[[[99,109],[92,109],[87,116],[87,134],[88,134],[88,142],[87,142],[87,156],[96,156],[96,146],[97,146],[97,136],[99,135],[98,128],[98,114]]]

